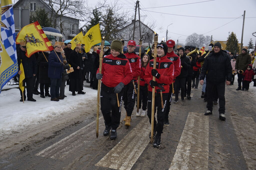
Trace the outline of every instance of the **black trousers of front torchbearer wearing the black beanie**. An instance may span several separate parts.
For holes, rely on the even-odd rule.
[[[155,93],[154,127],[156,127],[157,134],[163,133],[164,117],[165,117],[165,112],[167,110],[166,104],[168,102],[167,98],[168,98],[168,93],[163,93],[164,108],[162,108],[161,95],[160,95],[160,93]],[[152,108],[152,92],[148,91],[147,116],[149,118],[150,124],[151,124],[151,115],[152,115],[151,108]],[[157,123],[156,123],[156,118],[155,118],[156,108],[157,108]]]

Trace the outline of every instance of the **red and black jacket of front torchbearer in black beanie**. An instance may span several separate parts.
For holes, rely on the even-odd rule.
[[[147,84],[150,84],[150,80],[153,80],[153,76],[151,75],[151,70],[153,69],[154,59],[150,60],[144,75],[144,80]],[[156,70],[160,74],[159,79],[156,78],[156,82],[163,85],[165,91],[162,93],[169,93],[169,84],[173,83],[173,76],[174,76],[174,64],[170,61],[166,56],[164,57],[157,57],[156,58]],[[159,87],[155,87],[156,90]],[[148,85],[148,91],[152,91],[152,87]]]

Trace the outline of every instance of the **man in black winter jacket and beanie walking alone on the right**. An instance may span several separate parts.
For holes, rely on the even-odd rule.
[[[221,50],[221,44],[219,42],[215,43],[214,51],[205,58],[199,77],[201,85],[204,83],[205,76],[207,79],[207,112],[205,112],[205,115],[212,114],[212,90],[216,86],[219,95],[219,119],[226,120],[225,81],[227,85],[230,85],[232,78],[231,70],[229,56]]]

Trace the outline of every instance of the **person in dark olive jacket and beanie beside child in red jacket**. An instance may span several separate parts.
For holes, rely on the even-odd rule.
[[[251,64],[251,56],[247,53],[247,46],[244,46],[242,49],[242,53],[237,56],[236,60],[236,66],[235,69],[237,70],[237,82],[238,82],[238,88],[236,90],[243,90],[244,91],[244,86],[243,86],[243,72],[247,70],[247,66]],[[240,72],[240,70],[242,70]],[[242,88],[241,88],[241,83],[242,83]]]

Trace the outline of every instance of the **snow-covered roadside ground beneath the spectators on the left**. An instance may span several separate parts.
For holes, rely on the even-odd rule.
[[[33,95],[36,102],[25,100],[23,103],[19,101],[19,89],[13,88],[2,91],[0,94],[0,141],[8,135],[19,133],[29,126],[43,124],[63,116],[64,111],[69,112],[77,105],[86,103],[87,100],[97,96],[97,90],[86,87],[83,90],[86,94],[72,96],[68,88],[67,85],[65,87],[67,98],[58,102],[50,101],[50,97],[41,98],[40,95]]]

